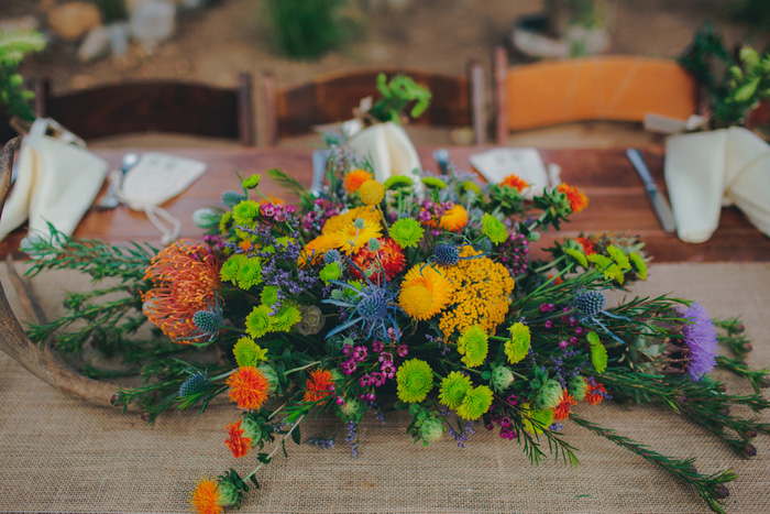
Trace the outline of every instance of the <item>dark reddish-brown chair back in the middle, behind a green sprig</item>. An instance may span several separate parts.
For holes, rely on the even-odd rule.
[[[473,127],[475,141],[485,140],[484,70],[469,64],[466,76],[446,75],[409,68],[364,68],[326,74],[309,83],[277,88],[266,72],[263,87],[267,117],[267,141],[276,145],[283,138],[311,133],[318,125],[353,117],[361,99],[377,97],[377,75],[404,74],[422,84],[432,95],[430,107],[411,123],[418,125]]]

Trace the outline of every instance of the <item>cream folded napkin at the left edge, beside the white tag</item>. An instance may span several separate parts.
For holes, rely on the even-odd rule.
[[[108,164],[86,149],[46,135],[38,119],[22,140],[15,185],[0,217],[0,240],[30,220],[30,236],[50,239],[48,223],[72,236],[105,181]]]

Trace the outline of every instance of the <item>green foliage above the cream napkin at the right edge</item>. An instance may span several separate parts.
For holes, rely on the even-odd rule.
[[[679,62],[706,90],[714,127],[741,124],[759,101],[770,98],[770,53],[744,46],[736,61],[710,24],[695,33]]]

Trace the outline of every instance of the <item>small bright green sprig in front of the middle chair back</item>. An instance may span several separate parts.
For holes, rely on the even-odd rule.
[[[419,118],[430,106],[430,90],[406,75],[396,75],[387,81],[385,74],[377,76],[377,90],[382,97],[369,113],[377,121],[400,122],[404,110],[411,105],[409,116]]]

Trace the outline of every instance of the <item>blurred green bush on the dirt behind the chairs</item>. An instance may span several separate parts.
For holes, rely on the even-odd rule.
[[[316,59],[341,46],[351,35],[343,17],[348,0],[267,0],[271,41],[293,58]]]

